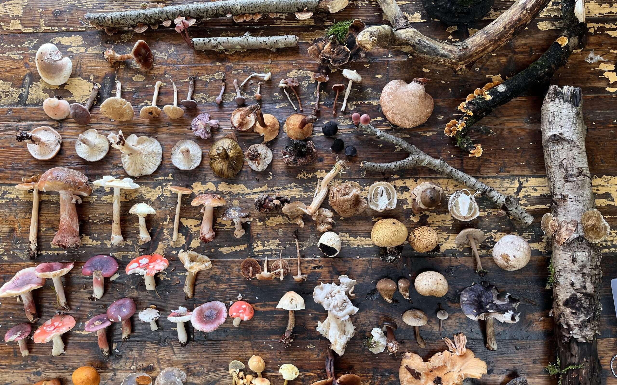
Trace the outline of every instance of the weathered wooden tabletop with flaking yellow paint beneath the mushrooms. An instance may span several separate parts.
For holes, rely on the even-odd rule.
[[[207,245],[200,243],[199,208],[190,206],[192,198],[184,198],[181,211],[180,238],[172,242],[173,214],[176,196],[167,190],[169,185],[184,185],[193,188],[195,193],[217,192],[228,202],[238,200],[247,208],[252,207],[253,199],[259,193],[281,192],[294,199],[309,202],[315,184],[327,172],[340,154],[330,151],[331,137],[321,134],[321,124],[333,119],[331,107],[334,83],[346,83],[340,72],[331,76],[323,86],[323,108],[320,123],[313,136],[320,156],[317,161],[301,168],[284,166],[280,151],[288,143],[288,137],[281,133],[271,144],[275,160],[261,173],[252,171],[244,165],[242,171],[233,179],[216,177],[207,164],[207,151],[213,140],[193,137],[189,124],[196,113],[189,112],[179,120],[170,121],[165,116],[146,121],[136,116],[126,123],[110,123],[93,109],[91,128],[109,134],[122,129],[126,134],[156,137],[164,147],[164,159],[159,169],[151,176],[136,180],[142,185],[139,190],[122,192],[122,232],[126,242],[121,246],[110,245],[112,197],[104,188],[96,188],[91,197],[78,205],[80,215],[82,246],[77,251],[59,249],[51,245],[51,240],[59,221],[59,198],[57,193],[41,193],[39,246],[41,255],[36,261],[28,260],[28,229],[30,225],[31,193],[15,190],[14,185],[24,176],[41,173],[54,166],[67,166],[85,173],[91,180],[112,174],[124,177],[120,163],[120,153],[110,149],[104,160],[87,163],[81,160],[74,150],[75,140],[85,128],[65,121],[51,121],[43,113],[41,102],[53,95],[61,95],[73,102],[85,102],[91,83],[101,84],[101,94],[97,104],[110,95],[114,80],[123,83],[123,97],[133,103],[138,110],[149,103],[155,81],[164,82],[159,95],[161,105],[172,101],[171,81],[180,87],[180,96],[186,92],[189,76],[197,77],[195,99],[199,102],[199,112],[209,112],[213,118],[222,121],[222,130],[214,132],[215,139],[224,136],[230,128],[228,117],[235,108],[233,102],[234,78],[244,79],[253,72],[271,71],[273,79],[262,86],[262,105],[265,113],[273,113],[284,121],[294,111],[289,107],[277,84],[281,78],[296,76],[300,83],[300,94],[304,100],[305,111],[310,110],[315,83],[310,78],[317,65],[306,53],[313,39],[323,36],[323,28],[315,26],[313,19],[298,21],[292,15],[275,19],[262,18],[257,22],[234,25],[231,20],[208,22],[207,27],[191,27],[193,36],[219,36],[221,34],[296,33],[300,37],[300,47],[280,52],[269,51],[236,52],[231,55],[215,52],[196,52],[189,49],[180,35],[172,28],[147,30],[144,34],[120,32],[107,36],[103,31],[94,30],[84,20],[89,11],[137,9],[141,1],[74,1],[74,0],[8,0],[0,4],[0,282],[6,282],[15,272],[36,265],[40,261],[75,261],[75,269],[64,279],[69,314],[77,319],[77,326],[65,334],[66,353],[51,357],[51,344],[40,345],[28,341],[31,354],[20,357],[16,344],[0,344],[0,383],[30,384],[40,379],[60,378],[63,384],[70,383],[70,374],[81,365],[92,365],[99,370],[103,384],[118,384],[133,371],[147,371],[156,375],[162,368],[175,365],[189,374],[188,384],[215,384],[228,381],[227,367],[230,360],[238,359],[247,363],[252,354],[265,359],[265,376],[275,383],[283,381],[278,375],[278,365],[293,363],[300,369],[297,381],[310,384],[325,378],[324,360],[328,341],[315,331],[318,320],[326,315],[323,308],[315,304],[311,293],[320,282],[333,282],[342,274],[358,280],[355,305],[360,308],[352,316],[356,326],[356,336],[350,341],[344,357],[337,359],[338,373],[353,371],[363,378],[363,383],[384,384],[398,381],[399,357],[387,353],[373,355],[363,347],[363,341],[370,336],[370,330],[385,318],[393,318],[404,326],[401,314],[411,307],[423,309],[429,315],[429,324],[421,328],[427,341],[425,349],[420,349],[413,338],[413,329],[400,327],[396,335],[401,342],[401,351],[418,352],[428,359],[434,352],[442,351],[445,345],[439,339],[437,320],[434,316],[437,304],[441,303],[450,313],[444,324],[445,334],[463,331],[468,336],[468,347],[489,367],[488,375],[474,383],[504,384],[518,373],[530,379],[532,384],[555,383],[556,380],[544,373],[544,367],[555,362],[553,351],[553,323],[549,316],[551,307],[550,290],[545,290],[550,246],[542,235],[539,219],[547,211],[547,181],[542,160],[540,142],[539,111],[542,90],[529,90],[526,94],[498,108],[494,114],[482,121],[484,130],[474,132],[482,143],[484,155],[470,158],[450,143],[443,132],[444,124],[457,112],[455,108],[465,96],[476,87],[481,87],[492,76],[503,79],[516,71],[526,68],[537,59],[552,43],[558,33],[560,10],[558,2],[552,2],[509,44],[479,60],[473,70],[465,75],[453,75],[447,68],[416,60],[402,52],[373,51],[362,62],[352,65],[363,76],[361,84],[354,84],[350,95],[349,110],[339,113],[335,120],[339,124],[338,137],[346,144],[358,149],[358,156],[349,159],[349,169],[342,179],[359,184],[365,191],[376,180],[392,182],[399,193],[399,205],[394,211],[379,214],[367,210],[364,214],[350,218],[336,218],[333,230],[339,233],[343,250],[339,257],[321,257],[317,249],[319,234],[313,221],[307,221],[299,229],[300,247],[304,259],[302,269],[309,275],[307,282],[296,283],[291,277],[283,282],[247,281],[239,273],[239,264],[247,256],[263,259],[264,256],[283,250],[285,257],[296,254],[292,231],[297,225],[289,224],[280,213],[252,213],[254,218],[247,225],[247,235],[240,239],[233,237],[233,226],[217,219],[215,230],[217,238]],[[446,30],[446,26],[428,19],[421,3],[400,2],[408,18],[423,33],[444,41],[455,42],[463,39],[463,31]],[[476,25],[481,28],[488,18],[494,18],[510,6],[510,1],[497,0],[494,9]],[[590,1],[587,4],[589,41],[582,51],[575,52],[565,68],[558,71],[553,83],[582,87],[584,93],[584,114],[589,134],[587,152],[590,168],[594,174],[594,188],[598,209],[605,214],[611,227],[617,227],[615,216],[615,195],[617,194],[617,146],[615,128],[617,103],[615,103],[615,20],[617,8],[608,0]],[[366,24],[382,23],[381,10],[372,1],[354,1],[339,14],[329,15],[326,25],[334,20],[362,18]],[[272,25],[268,25],[271,23]],[[473,32],[473,31],[471,31]],[[155,52],[155,67],[148,72],[134,68],[130,63],[110,65],[102,53],[114,47],[118,52],[130,50],[137,39],[145,39]],[[35,68],[35,52],[43,43],[54,43],[73,60],[72,78],[64,86],[49,86],[41,81]],[[589,64],[585,62],[590,50],[601,54],[608,62]],[[220,90],[220,79],[226,76],[227,91],[225,102],[218,106],[213,101]],[[496,217],[497,208],[483,198],[479,199],[481,216],[471,222],[486,232],[488,238],[480,246],[484,266],[490,270],[487,279],[501,290],[513,293],[521,299],[521,320],[514,325],[497,325],[499,350],[487,351],[484,348],[482,328],[477,322],[469,320],[458,306],[458,293],[465,286],[478,282],[474,274],[474,260],[469,249],[459,250],[454,245],[455,235],[466,227],[454,221],[442,205],[428,217],[431,227],[441,235],[439,252],[418,254],[406,246],[404,259],[396,264],[386,264],[379,260],[378,249],[371,245],[370,230],[379,217],[395,217],[409,228],[420,221],[420,216],[412,214],[409,201],[410,190],[425,180],[438,182],[447,192],[462,188],[451,180],[437,177],[428,169],[418,168],[395,174],[381,175],[368,173],[361,176],[358,165],[361,160],[392,161],[405,155],[391,145],[359,134],[351,124],[349,114],[354,111],[369,113],[376,126],[383,128],[386,121],[379,112],[379,92],[392,79],[410,81],[413,77],[431,79],[427,91],[435,99],[434,113],[426,124],[419,128],[400,130],[396,134],[415,143],[432,156],[444,157],[452,166],[469,174],[481,177],[501,192],[519,198],[534,216],[536,221],[527,228],[513,225],[508,219]],[[252,101],[255,84],[246,86],[247,100]],[[329,92],[328,92],[329,91]],[[404,102],[402,100],[401,102]],[[49,125],[63,136],[62,150],[50,161],[37,161],[31,158],[25,146],[15,142],[15,134],[36,126]],[[247,146],[261,142],[256,134],[239,134],[239,141]],[[180,139],[194,139],[204,149],[204,161],[196,171],[179,171],[170,161],[170,150]],[[151,227],[152,241],[138,245],[138,225],[136,217],[129,214],[129,208],[137,202],[146,202],[157,209],[157,214],[147,219]],[[326,207],[328,207],[326,205]],[[254,211],[254,210],[253,210]],[[218,210],[216,215],[222,214]],[[491,259],[491,248],[495,240],[506,233],[523,236],[532,247],[531,262],[522,270],[505,272]],[[606,383],[617,383],[608,371],[611,356],[617,353],[615,332],[615,309],[611,300],[610,279],[617,276],[612,263],[615,256],[613,247],[615,237],[602,243],[605,253],[603,259],[602,334],[598,336],[598,349],[605,368]],[[201,272],[197,277],[194,301],[184,301],[182,285],[184,268],[177,259],[178,251],[189,245],[200,253],[209,255],[213,268]],[[105,296],[91,302],[91,278],[83,277],[80,270],[83,263],[96,254],[112,254],[118,259],[121,270],[127,262],[138,254],[160,253],[170,259],[170,267],[157,276],[157,293],[144,288],[143,278],[127,276],[122,272],[112,283],[106,283]],[[295,261],[290,261],[295,268]],[[444,298],[421,298],[412,290],[412,303],[397,294],[397,302],[387,304],[375,292],[376,282],[383,277],[412,279],[423,270],[434,269],[444,274],[450,283],[449,293]],[[337,281],[336,281],[337,282]],[[289,348],[278,342],[283,333],[287,312],[275,309],[278,299],[288,290],[302,294],[306,309],[297,312],[297,338]],[[85,321],[104,312],[110,302],[123,296],[135,299],[138,310],[149,305],[157,306],[162,314],[178,306],[189,309],[206,301],[234,301],[238,294],[255,307],[255,317],[243,322],[239,328],[231,326],[231,320],[218,330],[204,335],[193,333],[190,323],[189,343],[180,347],[175,325],[164,317],[159,320],[160,329],[152,332],[149,325],[133,317],[134,332],[131,338],[122,342],[120,328],[113,326],[108,331],[113,342],[112,356],[102,359],[96,344],[96,336],[83,331]],[[36,306],[41,320],[49,319],[56,311],[54,289],[49,282],[35,292]],[[21,302],[14,298],[4,298],[0,306],[0,330],[2,334],[15,323],[24,322]]]

